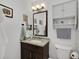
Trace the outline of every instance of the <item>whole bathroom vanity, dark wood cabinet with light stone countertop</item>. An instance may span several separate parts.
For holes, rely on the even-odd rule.
[[[48,59],[48,39],[27,39],[21,41],[21,59]]]

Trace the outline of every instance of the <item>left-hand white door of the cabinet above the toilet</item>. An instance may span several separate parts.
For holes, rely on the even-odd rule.
[[[63,5],[53,6],[53,17],[54,18],[62,18],[63,17]]]

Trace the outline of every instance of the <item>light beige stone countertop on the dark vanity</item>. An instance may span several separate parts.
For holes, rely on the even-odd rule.
[[[42,37],[33,37],[33,38],[26,38],[25,40],[21,40],[23,43],[28,43],[40,47],[44,47],[48,42],[48,38],[42,38]]]

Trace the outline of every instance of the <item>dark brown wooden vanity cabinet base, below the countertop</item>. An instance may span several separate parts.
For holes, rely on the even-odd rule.
[[[21,59],[48,59],[49,43],[44,47],[21,42]]]

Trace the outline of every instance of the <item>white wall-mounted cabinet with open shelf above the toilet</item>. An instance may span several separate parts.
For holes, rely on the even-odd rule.
[[[53,6],[53,27],[76,29],[78,24],[77,5],[77,1],[72,0]]]

